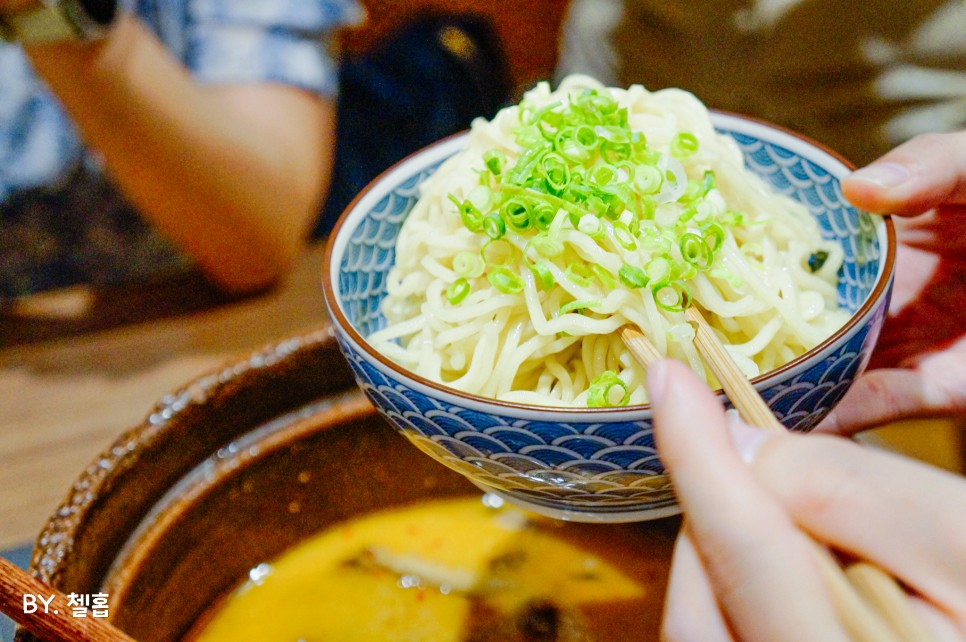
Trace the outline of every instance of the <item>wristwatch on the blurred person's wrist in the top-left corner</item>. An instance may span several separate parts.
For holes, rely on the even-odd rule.
[[[0,14],[0,40],[53,43],[96,40],[110,29],[117,0],[39,0],[36,6]]]

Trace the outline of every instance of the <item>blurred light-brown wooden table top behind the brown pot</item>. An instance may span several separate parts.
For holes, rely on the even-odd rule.
[[[166,393],[323,324],[322,254],[309,247],[283,285],[239,301],[179,282],[0,310],[0,549],[31,543],[81,471]],[[873,439],[961,467],[947,424],[890,430]]]

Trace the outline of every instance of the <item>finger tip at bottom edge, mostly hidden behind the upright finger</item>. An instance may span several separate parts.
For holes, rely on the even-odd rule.
[[[674,544],[661,623],[666,642],[732,642],[711,580],[701,565],[694,543],[683,528]]]

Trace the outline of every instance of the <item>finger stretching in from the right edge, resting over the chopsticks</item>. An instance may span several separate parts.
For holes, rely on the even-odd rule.
[[[966,620],[966,481],[826,435],[765,442],[757,478],[805,530]]]

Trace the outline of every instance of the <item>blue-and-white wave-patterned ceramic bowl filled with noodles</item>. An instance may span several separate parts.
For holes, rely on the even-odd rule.
[[[714,113],[746,165],[802,202],[823,235],[841,243],[838,300],[851,317],[840,330],[752,383],[781,422],[813,428],[864,370],[888,309],[895,233],[887,218],[842,196],[846,162],[802,136],[742,116]],[[649,406],[575,409],[507,403],[428,381],[366,341],[385,324],[380,301],[396,236],[419,186],[460,150],[465,134],[440,141],[378,177],[329,237],[326,304],[339,347],[379,411],[424,453],[477,486],[552,517],[634,521],[678,512],[651,432]]]

